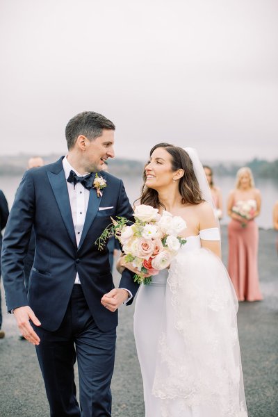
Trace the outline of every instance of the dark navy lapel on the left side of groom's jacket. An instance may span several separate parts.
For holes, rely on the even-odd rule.
[[[70,198],[67,191],[67,182],[65,181],[65,171],[63,170],[62,159],[53,165],[54,170],[47,171],[47,175],[51,188],[54,192],[60,214],[63,218],[63,222],[65,223],[67,233],[69,234],[74,247],[77,248],[76,237],[74,234],[74,223],[72,221],[72,210],[70,208]]]

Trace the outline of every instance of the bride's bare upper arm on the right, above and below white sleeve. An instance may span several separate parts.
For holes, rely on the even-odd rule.
[[[211,229],[219,227],[215,219],[213,208],[207,202],[199,204],[199,230]],[[215,255],[221,258],[221,244],[220,240],[205,240],[201,237],[201,246],[211,250]]]

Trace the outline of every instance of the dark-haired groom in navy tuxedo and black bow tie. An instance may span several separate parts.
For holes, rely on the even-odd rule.
[[[111,416],[117,308],[130,304],[138,289],[127,269],[114,288],[108,250],[95,245],[111,216],[133,213],[122,181],[101,172],[114,157],[114,131],[98,113],[73,117],[65,129],[67,156],[26,171],[3,239],[8,311],[36,347],[51,417]],[[97,186],[95,172],[104,187]],[[24,257],[32,227],[36,249],[27,300]]]

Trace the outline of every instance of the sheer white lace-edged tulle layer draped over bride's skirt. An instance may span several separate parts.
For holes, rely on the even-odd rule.
[[[153,386],[161,416],[204,407],[197,416],[247,417],[238,302],[224,265],[204,249],[181,251],[167,283]]]

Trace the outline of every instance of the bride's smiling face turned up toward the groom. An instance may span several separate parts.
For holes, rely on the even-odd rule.
[[[163,148],[156,148],[145,167],[146,186],[154,190],[173,183],[172,156]]]

